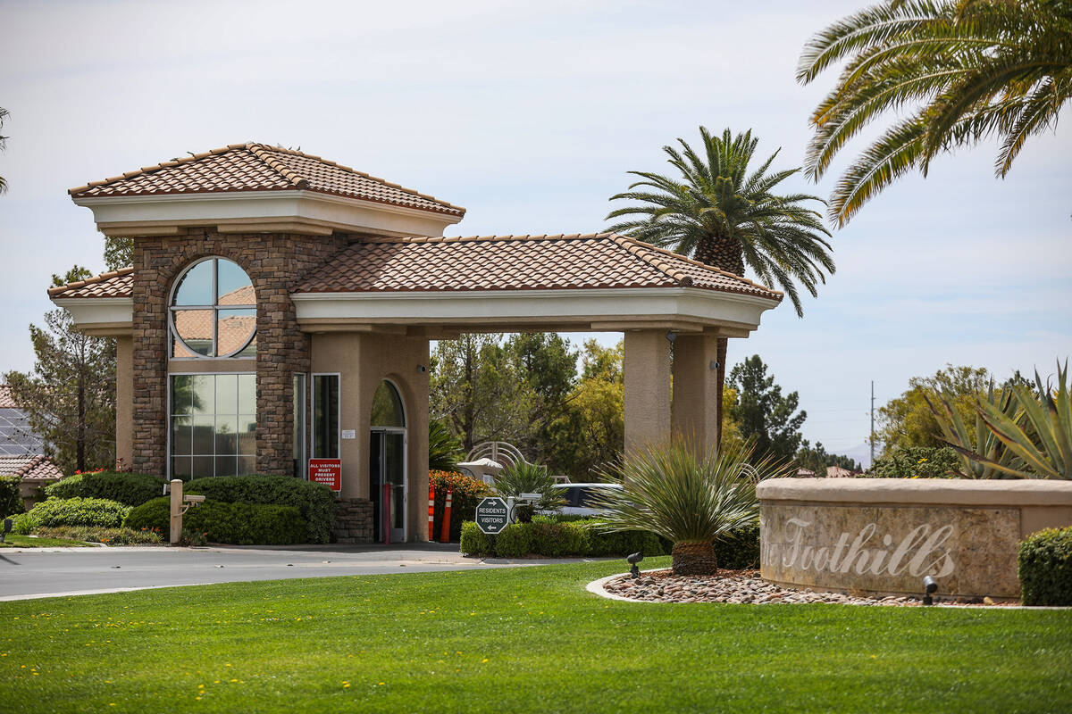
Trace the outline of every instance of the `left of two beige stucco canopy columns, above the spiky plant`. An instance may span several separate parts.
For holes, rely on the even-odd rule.
[[[670,435],[670,343],[666,330],[625,333],[625,450]]]

